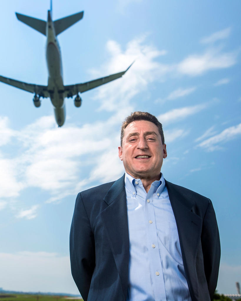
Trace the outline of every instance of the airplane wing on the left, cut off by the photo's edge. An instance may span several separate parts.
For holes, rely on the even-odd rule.
[[[4,82],[5,84],[14,86],[16,88],[25,90],[27,92],[35,93],[41,97],[49,97],[47,86],[28,84],[27,82],[20,82],[19,80],[11,79],[1,75],[0,75],[0,82]]]

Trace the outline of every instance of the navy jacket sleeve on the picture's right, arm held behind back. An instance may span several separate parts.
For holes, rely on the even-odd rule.
[[[203,219],[201,241],[205,276],[212,298],[218,281],[221,251],[217,220],[212,202],[211,200],[209,201],[210,203]]]

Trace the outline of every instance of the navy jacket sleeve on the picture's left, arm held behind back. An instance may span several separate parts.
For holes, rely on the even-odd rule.
[[[89,217],[81,194],[76,198],[70,228],[70,264],[74,281],[84,300],[87,300],[95,268],[95,242]]]

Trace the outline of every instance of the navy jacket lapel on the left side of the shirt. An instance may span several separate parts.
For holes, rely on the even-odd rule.
[[[101,212],[109,244],[121,279],[124,300],[127,297],[129,268],[129,235],[125,175],[114,182],[104,197],[108,207]]]

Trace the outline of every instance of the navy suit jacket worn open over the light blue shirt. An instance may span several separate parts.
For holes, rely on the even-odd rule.
[[[177,223],[192,301],[213,295],[220,240],[211,201],[166,181]],[[84,301],[125,301],[129,237],[124,176],[77,195],[70,230],[70,262]]]

